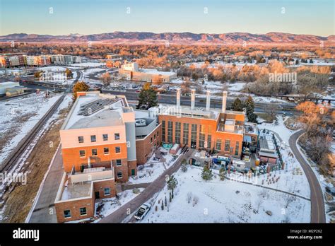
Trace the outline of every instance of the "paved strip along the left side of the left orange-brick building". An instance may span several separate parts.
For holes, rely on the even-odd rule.
[[[37,197],[37,203],[29,223],[57,223],[54,199],[56,198],[61,177],[64,173],[60,147],[50,165],[50,170],[45,179],[40,196]],[[50,214],[50,211],[52,211],[52,214]]]

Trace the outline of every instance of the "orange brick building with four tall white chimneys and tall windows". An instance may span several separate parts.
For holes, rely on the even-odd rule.
[[[159,113],[162,142],[191,148],[214,149],[221,155],[240,157],[245,113],[225,110],[226,92],[223,93],[221,112],[210,110],[209,92],[206,110],[194,107],[195,90],[192,90],[191,97],[191,108],[181,107],[180,89],[177,89],[177,105]]]

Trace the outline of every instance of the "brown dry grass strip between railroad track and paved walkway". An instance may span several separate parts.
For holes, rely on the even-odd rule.
[[[25,218],[33,205],[40,184],[49,168],[49,164],[59,145],[59,129],[64,122],[69,109],[62,110],[59,118],[52,122],[45,134],[37,142],[33,151],[27,159],[27,166],[24,172],[27,172],[27,184],[17,184],[8,189],[4,195],[6,207],[4,209],[4,221],[6,223],[24,223]],[[52,142],[52,146],[50,146]]]

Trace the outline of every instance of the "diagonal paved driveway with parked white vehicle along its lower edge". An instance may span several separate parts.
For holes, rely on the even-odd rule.
[[[121,223],[124,221],[124,219],[127,218],[129,214],[134,213],[137,209],[139,209],[139,206],[148,201],[148,199],[151,199],[155,193],[160,192],[160,190],[165,187],[165,176],[170,176],[176,172],[180,168],[182,159],[189,158],[191,153],[192,150],[189,149],[186,154],[181,155],[170,168],[165,170],[163,174],[151,182],[151,184],[148,185],[148,187],[146,187],[146,189],[144,189],[143,192],[141,192],[137,197],[127,202],[127,204],[124,204],[122,207],[117,209],[117,211],[114,211],[114,213],[111,213],[105,218],[102,218],[99,223]]]

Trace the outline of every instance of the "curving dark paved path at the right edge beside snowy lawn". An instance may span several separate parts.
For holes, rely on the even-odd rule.
[[[311,201],[311,223],[326,223],[326,216],[324,212],[324,197],[322,189],[319,185],[319,181],[313,172],[310,165],[306,162],[305,158],[302,157],[297,146],[297,139],[304,133],[304,130],[295,132],[288,140],[290,148],[293,151],[295,158],[299,161],[304,170],[305,175],[310,185],[310,201]]]

